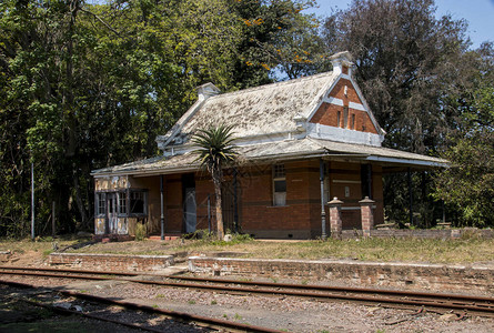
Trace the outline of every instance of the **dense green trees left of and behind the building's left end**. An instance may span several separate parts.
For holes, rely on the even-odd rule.
[[[14,1],[0,3],[0,235],[92,229],[91,170],[155,155],[212,81],[270,82],[275,44],[311,1]],[[255,21],[248,26],[245,21]],[[271,57],[271,58],[270,58]],[[254,65],[248,65],[253,63]]]

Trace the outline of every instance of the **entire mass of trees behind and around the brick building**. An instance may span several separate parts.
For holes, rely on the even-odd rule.
[[[53,201],[61,232],[92,229],[90,171],[155,155],[157,134],[192,104],[195,87],[211,81],[232,91],[327,71],[336,51],[355,58],[356,80],[387,132],[386,147],[444,153],[455,165],[478,144],[488,157],[492,46],[471,50],[465,21],[436,19],[433,0],[353,1],[329,18],[306,14],[313,6],[0,2],[0,235],[28,233],[31,162],[37,230],[47,229]],[[484,162],[477,173],[488,168]],[[458,170],[444,173],[451,184]],[[446,180],[440,184],[448,191]],[[482,184],[472,198],[492,193],[490,178]],[[457,201],[442,193],[450,204]],[[386,200],[401,204],[403,195],[393,196]],[[455,206],[462,215],[465,208]],[[492,224],[485,216],[465,221]]]

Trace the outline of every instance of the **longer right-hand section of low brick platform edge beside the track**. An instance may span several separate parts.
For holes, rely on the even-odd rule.
[[[355,261],[300,261],[266,259],[189,258],[192,272],[221,275],[331,280],[347,284],[405,289],[494,290],[492,268],[464,268],[443,264],[392,264]]]

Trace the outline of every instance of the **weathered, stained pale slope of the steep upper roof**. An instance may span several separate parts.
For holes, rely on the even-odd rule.
[[[235,138],[295,131],[293,118],[308,117],[336,78],[326,72],[211,97],[181,132],[190,135],[221,123],[234,125]]]

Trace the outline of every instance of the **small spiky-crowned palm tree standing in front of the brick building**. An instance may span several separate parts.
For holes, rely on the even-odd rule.
[[[233,127],[220,124],[216,128],[199,130],[192,138],[199,154],[196,161],[205,168],[214,183],[215,209],[216,209],[216,235],[219,240],[224,238],[223,211],[221,208],[221,183],[223,181],[223,167],[233,163],[238,153],[233,142]]]

